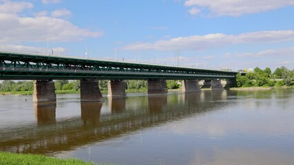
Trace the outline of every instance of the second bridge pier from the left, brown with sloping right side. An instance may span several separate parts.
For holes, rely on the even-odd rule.
[[[81,80],[81,102],[103,101],[98,80]]]

